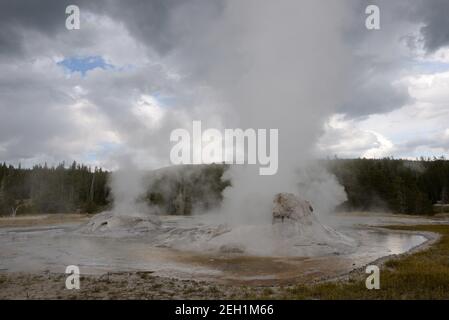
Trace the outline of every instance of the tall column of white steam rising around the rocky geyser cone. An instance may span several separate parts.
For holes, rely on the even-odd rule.
[[[238,26],[240,32],[223,32],[227,38],[220,39],[237,48],[239,58],[217,61],[209,70],[237,115],[225,125],[279,129],[276,175],[232,167],[233,187],[223,204],[231,223],[268,221],[278,192],[301,193],[321,213],[345,200],[331,175],[310,166],[323,122],[345,90],[344,10],[340,2],[245,1],[232,2],[226,11],[223,28]]]

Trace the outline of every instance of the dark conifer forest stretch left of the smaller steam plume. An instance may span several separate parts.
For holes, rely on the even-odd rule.
[[[108,173],[73,163],[70,167],[0,166],[0,213],[94,212],[108,204]]]

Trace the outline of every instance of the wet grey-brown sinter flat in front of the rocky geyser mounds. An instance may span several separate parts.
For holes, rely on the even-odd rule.
[[[152,271],[155,275],[219,282],[280,284],[345,274],[378,258],[406,252],[427,239],[365,226],[401,223],[397,216],[342,217],[339,231],[355,239],[348,253],[323,256],[254,256],[158,247],[151,237],[98,237],[72,232],[79,224],[0,228],[0,270],[63,273],[77,265],[81,273]],[[171,223],[177,223],[176,218]],[[182,219],[182,218],[180,218]],[[346,220],[345,220],[346,219]],[[398,220],[399,219],[399,220]],[[411,223],[432,223],[425,219]],[[189,222],[191,223],[191,221]],[[409,222],[407,222],[409,223]]]

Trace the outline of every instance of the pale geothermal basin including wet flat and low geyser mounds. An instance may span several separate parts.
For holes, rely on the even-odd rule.
[[[3,227],[0,271],[64,273],[68,265],[77,265],[82,274],[144,271],[221,283],[288,284],[338,277],[435,240],[432,234],[392,231],[380,228],[383,225],[441,222],[389,214],[339,214],[338,234],[350,239],[349,244],[343,241],[332,248],[298,244],[283,252],[278,250],[283,242],[280,248],[267,247],[270,232],[277,232],[272,225],[239,229],[210,221],[201,216],[160,216],[157,230],[141,225],[134,232],[114,234],[88,232],[92,220]],[[245,240],[248,235],[255,235],[256,241]]]

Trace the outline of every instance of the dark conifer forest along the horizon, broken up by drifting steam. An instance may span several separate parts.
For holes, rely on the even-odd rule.
[[[344,210],[431,214],[449,203],[449,161],[333,159],[324,166],[345,187]],[[143,201],[167,214],[190,214],[219,205],[225,165],[182,166],[148,174]],[[97,212],[111,205],[110,173],[73,163],[31,169],[0,165],[0,214]]]

